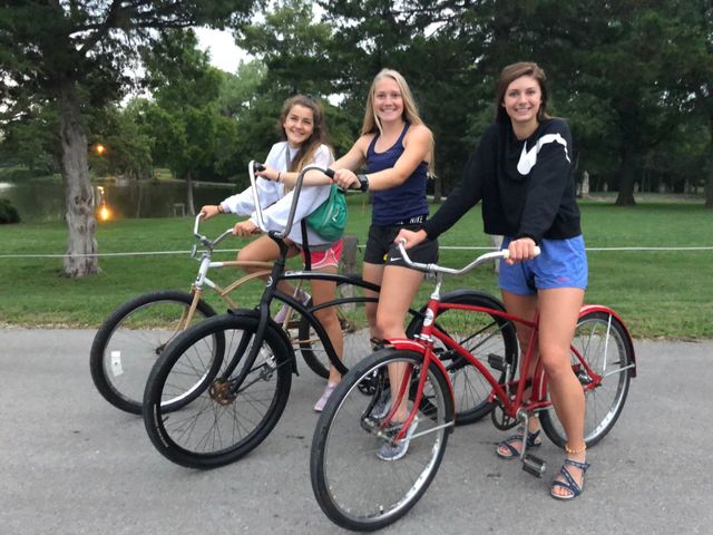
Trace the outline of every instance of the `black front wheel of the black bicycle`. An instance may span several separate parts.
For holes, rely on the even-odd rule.
[[[240,459],[267,438],[285,409],[292,385],[294,353],[284,332],[267,324],[260,353],[240,390],[231,390],[229,381],[247,363],[244,357],[254,343],[258,322],[255,315],[216,315],[183,332],[166,348],[144,395],[144,424],[164,457],[189,468],[215,468]],[[225,340],[222,353],[213,354],[211,342],[204,344],[208,337]],[[228,369],[229,377],[223,377]],[[173,398],[174,390],[183,392],[185,385],[197,389],[193,399],[166,408],[165,398]]]

